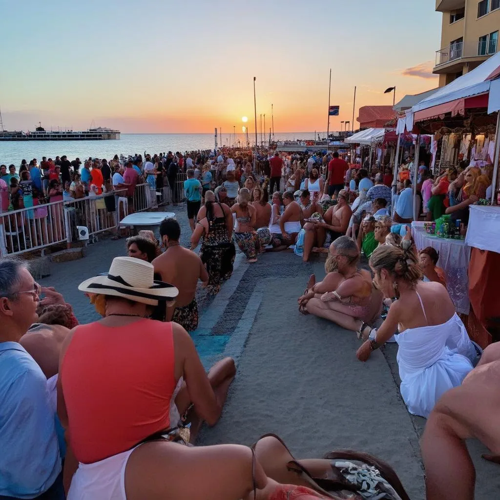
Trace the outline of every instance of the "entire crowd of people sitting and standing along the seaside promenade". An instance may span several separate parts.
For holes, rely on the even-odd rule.
[[[0,449],[9,450],[0,453],[0,498],[336,498],[334,488],[324,494],[324,482],[315,487],[289,473],[291,455],[276,436],[252,448],[191,445],[203,421],[217,422],[235,376],[230,358],[203,369],[189,335],[199,322],[196,288],[201,282],[209,293],[220,290],[236,245],[250,263],[264,251],[289,250],[303,261],[326,254],[326,275],[310,276],[299,311],[356,333],[360,361],[385,342],[398,343],[402,398],[410,413],[428,418],[427,498],[473,497],[465,439],[476,437],[500,454],[500,350],[482,352],[469,339],[436,267],[437,252],[416,251],[407,225],[413,213],[404,207],[409,179],[401,179],[392,207],[390,173],[368,173],[337,152],[272,153],[258,161],[249,154],[145,154],[144,164],[141,156],[89,158],[81,172],[78,159],[63,156],[60,166],[46,160],[57,179],[45,179],[36,160],[20,172],[28,180],[30,171],[40,173],[44,195],[52,180],[64,190],[69,183],[72,197],[76,186],[84,196],[107,182],[130,199],[140,180],[156,191],[185,171],[172,202],[186,200],[191,246],[180,245],[174,218],[160,224],[160,241],[152,231],[128,238],[127,256],[78,286],[101,316],[90,324],[78,324],[71,305],[40,287],[23,261],[0,261]],[[479,177],[465,171],[457,204],[484,183]],[[317,467],[309,479],[322,477],[331,465],[325,461],[302,460],[300,470]],[[371,483],[367,471],[349,469],[351,489],[364,491],[363,498],[407,498],[395,474]]]

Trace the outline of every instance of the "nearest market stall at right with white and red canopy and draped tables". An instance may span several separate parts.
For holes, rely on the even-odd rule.
[[[485,204],[496,202],[495,186],[500,153],[500,53],[477,68],[438,89],[413,105],[398,121],[399,132],[434,134],[431,144],[434,173],[447,166],[492,165],[491,194]],[[486,176],[485,171],[482,172]],[[491,175],[491,170],[489,171]],[[479,192],[479,191],[477,191]],[[500,207],[469,205],[465,239],[456,234],[454,220],[445,223],[438,237],[423,227],[412,227],[418,249],[439,251],[438,266],[446,273],[449,294],[464,317],[469,335],[483,347],[500,327],[497,284],[500,280]],[[461,217],[458,217],[461,218]],[[447,230],[453,229],[453,236]],[[428,229],[428,227],[427,227]],[[451,231],[450,231],[451,232]],[[492,279],[492,276],[494,278]]]

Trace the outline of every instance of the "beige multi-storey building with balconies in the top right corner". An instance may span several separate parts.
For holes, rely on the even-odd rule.
[[[442,87],[500,50],[500,0],[436,0],[441,48],[432,72]]]

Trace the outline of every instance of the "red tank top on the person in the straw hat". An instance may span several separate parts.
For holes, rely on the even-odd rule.
[[[59,376],[76,459],[93,463],[170,426],[175,389],[172,323],[80,325]]]

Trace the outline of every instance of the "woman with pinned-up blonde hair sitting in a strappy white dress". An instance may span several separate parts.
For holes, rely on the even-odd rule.
[[[423,282],[411,241],[382,245],[369,260],[373,283],[385,298],[396,297],[382,325],[357,350],[366,361],[396,331],[401,396],[408,411],[427,417],[439,397],[461,384],[478,353],[455,312],[446,288]]]

